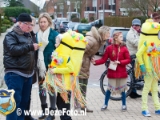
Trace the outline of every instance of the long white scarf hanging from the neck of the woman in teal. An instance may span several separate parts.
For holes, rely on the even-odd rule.
[[[37,67],[39,69],[39,76],[41,78],[44,78],[45,74],[46,74],[46,66],[45,66],[45,63],[44,63],[43,51],[49,43],[49,41],[48,41],[49,33],[50,33],[50,27],[48,27],[44,32],[39,30],[38,31],[38,36],[37,36],[38,37],[38,43],[42,44],[39,47],[39,50],[38,50],[38,61],[37,61]]]

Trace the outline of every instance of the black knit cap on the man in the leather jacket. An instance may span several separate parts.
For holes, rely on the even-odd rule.
[[[32,22],[31,16],[27,13],[21,13],[18,16],[18,20],[17,21],[21,21],[21,22]]]

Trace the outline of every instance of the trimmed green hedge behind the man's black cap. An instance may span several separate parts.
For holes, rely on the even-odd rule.
[[[30,9],[27,9],[25,7],[5,7],[3,8],[4,14],[7,17],[18,17],[20,13],[28,13],[30,14]]]

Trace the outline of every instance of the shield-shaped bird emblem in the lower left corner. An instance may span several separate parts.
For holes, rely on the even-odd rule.
[[[0,113],[3,115],[11,114],[16,108],[14,100],[14,90],[0,90]]]

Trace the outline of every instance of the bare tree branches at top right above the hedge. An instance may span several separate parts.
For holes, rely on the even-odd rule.
[[[137,9],[143,16],[149,17],[149,12],[155,12],[160,6],[160,0],[123,0],[121,6],[126,8],[128,13]]]

